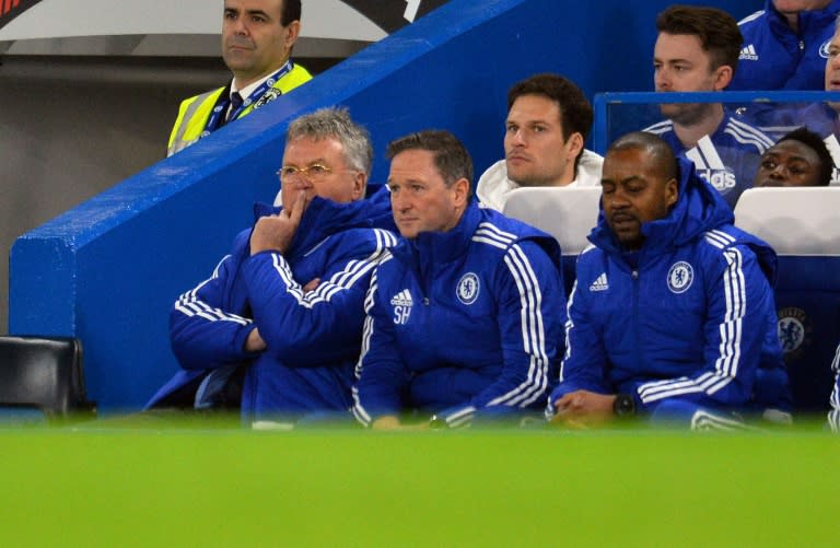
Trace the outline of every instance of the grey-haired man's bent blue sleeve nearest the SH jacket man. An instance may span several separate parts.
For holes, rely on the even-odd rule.
[[[287,259],[261,252],[243,264],[243,277],[254,320],[267,352],[294,366],[316,366],[343,361],[359,348],[364,322],[364,295],[373,269],[395,237],[375,230],[368,244],[326,265],[317,289],[304,292]]]

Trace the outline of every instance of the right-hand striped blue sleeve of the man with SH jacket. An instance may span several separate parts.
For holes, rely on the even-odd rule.
[[[558,268],[534,242],[506,249],[492,284],[504,360],[501,374],[465,405],[438,413],[450,427],[465,425],[477,411],[495,416],[545,403],[565,319]]]

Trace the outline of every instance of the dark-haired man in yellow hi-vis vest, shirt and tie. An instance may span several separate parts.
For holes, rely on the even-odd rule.
[[[182,102],[167,156],[312,80],[290,59],[301,0],[224,0],[223,13],[222,58],[233,80]]]

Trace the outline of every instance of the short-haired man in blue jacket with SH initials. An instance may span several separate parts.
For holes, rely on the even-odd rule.
[[[388,156],[402,237],[365,302],[357,419],[457,428],[540,409],[565,319],[557,241],[478,207],[472,161],[452,133],[409,135]]]

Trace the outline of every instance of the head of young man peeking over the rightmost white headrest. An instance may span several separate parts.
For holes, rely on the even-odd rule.
[[[802,127],[767,149],[752,186],[828,186],[833,166],[822,138]]]

